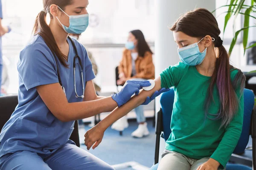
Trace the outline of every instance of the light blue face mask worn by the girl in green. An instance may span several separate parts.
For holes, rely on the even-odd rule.
[[[203,39],[204,38],[202,38],[201,40]],[[201,40],[198,43],[200,43]],[[189,66],[196,66],[201,64],[204,61],[207,48],[203,52],[200,52],[198,43],[193,43],[189,46],[178,49],[180,60],[183,63]]]

